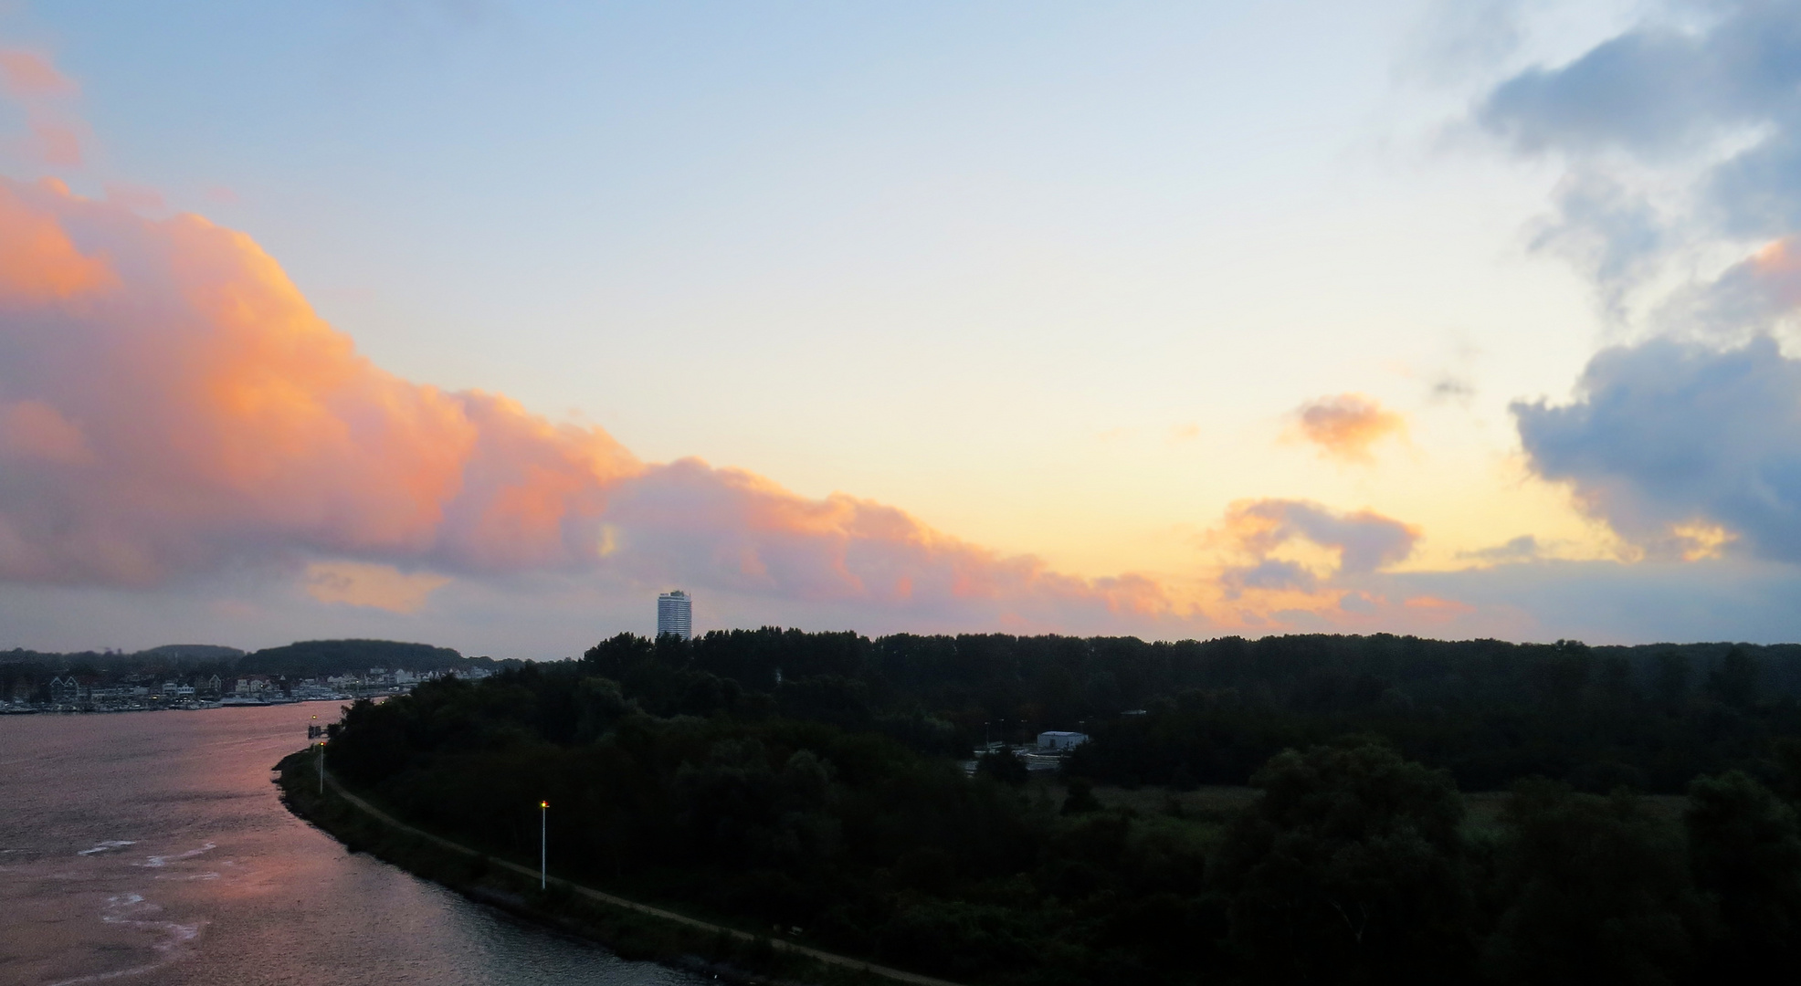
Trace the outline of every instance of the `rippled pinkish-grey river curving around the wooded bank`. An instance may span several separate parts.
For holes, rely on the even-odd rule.
[[[270,766],[306,745],[312,716],[337,705],[0,716],[0,982],[702,982],[346,853],[290,815]]]

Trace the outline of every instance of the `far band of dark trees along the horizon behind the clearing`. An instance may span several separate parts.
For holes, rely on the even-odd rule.
[[[1704,772],[1752,768],[1770,736],[1801,731],[1794,644],[870,641],[764,628],[692,642],[618,635],[584,664],[654,714],[708,714],[735,689],[922,752],[1081,731],[1095,743],[1077,752],[1079,772],[1127,784],[1243,784],[1277,750],[1363,732],[1450,768],[1470,790],[1545,775],[1594,792],[1626,783],[1675,793]]]

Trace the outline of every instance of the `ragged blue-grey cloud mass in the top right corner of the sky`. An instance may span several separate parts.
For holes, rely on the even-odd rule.
[[[1569,164],[1534,246],[1576,263],[1615,317],[1682,250],[1801,232],[1801,4],[1673,2],[1659,13],[1567,65],[1513,76],[1473,113],[1516,153]],[[1698,175],[1686,196],[1653,202],[1621,180],[1623,160]],[[1675,315],[1707,311],[1684,329],[1742,340],[1792,309],[1772,313],[1765,299],[1745,279],[1704,281]]]

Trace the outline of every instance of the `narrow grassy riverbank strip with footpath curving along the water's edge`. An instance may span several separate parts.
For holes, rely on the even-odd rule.
[[[283,806],[351,853],[369,853],[472,901],[602,945],[621,959],[652,961],[746,986],[960,986],[713,925],[558,876],[551,876],[549,887],[540,891],[535,869],[393,819],[330,775],[326,793],[319,795],[319,774],[308,750],[288,754],[272,770]]]

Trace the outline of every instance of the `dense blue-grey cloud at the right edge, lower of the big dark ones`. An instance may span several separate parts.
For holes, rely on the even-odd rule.
[[[1801,360],[1769,336],[1740,349],[1653,340],[1606,349],[1581,399],[1515,403],[1531,468],[1652,552],[1715,524],[1752,554],[1801,561]]]

